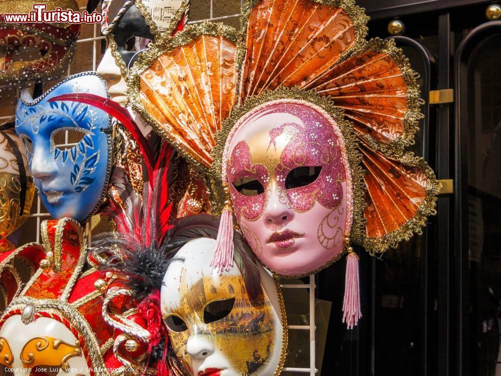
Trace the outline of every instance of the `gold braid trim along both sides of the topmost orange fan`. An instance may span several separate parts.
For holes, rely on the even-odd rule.
[[[247,36],[247,27],[249,22],[250,12],[261,2],[262,0],[246,0],[242,5],[242,16],[240,17],[240,39],[238,41],[238,48],[236,54],[236,70],[238,72],[238,82],[241,82],[242,75],[242,67],[243,62],[245,60],[245,39]],[[345,52],[341,54],[337,64],[343,60],[346,60],[348,56],[350,56],[353,50],[364,41],[364,38],[367,36],[368,28],[367,23],[370,20],[365,14],[365,9],[360,8],[355,4],[355,0],[309,0],[314,3],[328,5],[334,8],[343,9],[351,22],[353,23],[353,27],[355,29],[355,42],[353,46],[347,49]]]

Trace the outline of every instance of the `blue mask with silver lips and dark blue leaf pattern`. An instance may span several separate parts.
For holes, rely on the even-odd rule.
[[[95,72],[68,77],[37,99],[24,91],[16,110],[16,132],[25,144],[30,172],[42,203],[55,219],[84,222],[105,197],[111,168],[111,118],[77,102],[49,102],[61,94],[108,98]]]

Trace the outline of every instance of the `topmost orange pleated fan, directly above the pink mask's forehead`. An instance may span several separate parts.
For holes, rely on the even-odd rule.
[[[308,0],[255,3],[248,2],[243,9],[243,20],[248,22],[241,100],[279,85],[308,83],[367,33],[368,18],[352,1],[338,2],[345,7]]]

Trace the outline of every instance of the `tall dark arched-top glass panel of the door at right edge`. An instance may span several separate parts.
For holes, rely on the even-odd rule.
[[[501,374],[501,35],[473,49],[461,90],[468,138],[469,346],[472,376]],[[463,128],[464,129],[464,128]]]

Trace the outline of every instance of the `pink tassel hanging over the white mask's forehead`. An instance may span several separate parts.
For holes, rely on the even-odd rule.
[[[216,250],[210,266],[219,273],[233,266],[233,214],[230,204],[224,207],[219,220]]]

